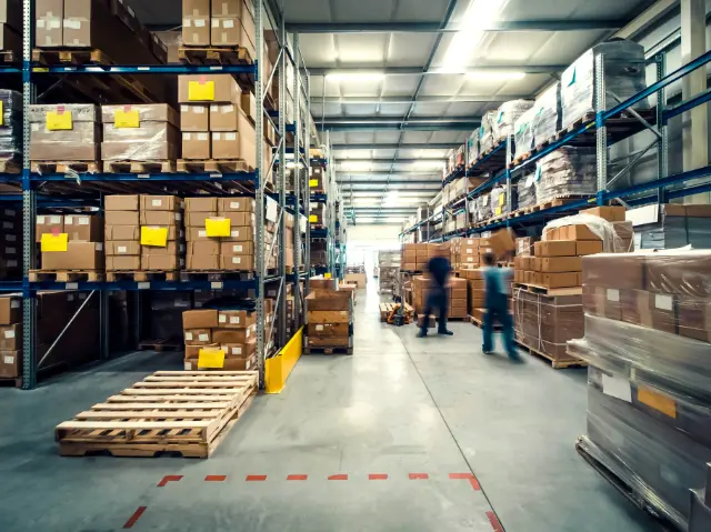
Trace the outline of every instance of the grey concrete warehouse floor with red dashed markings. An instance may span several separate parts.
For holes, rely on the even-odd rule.
[[[465,323],[418,340],[413,325],[379,323],[375,293],[360,295],[353,357],[303,357],[286,391],[258,398],[209,460],[64,459],[52,440],[57,423],[180,368],[180,355],[138,353],[32,392],[0,390],[0,530],[658,530],[574,451],[584,371],[484,357]],[[181,478],[158,486],[167,475]]]

